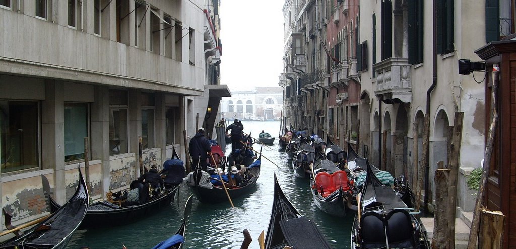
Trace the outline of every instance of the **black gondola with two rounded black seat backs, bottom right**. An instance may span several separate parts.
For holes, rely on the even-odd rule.
[[[366,164],[366,181],[351,230],[351,248],[429,248],[426,230],[392,188]]]

